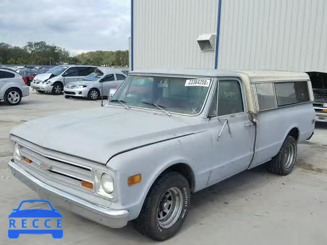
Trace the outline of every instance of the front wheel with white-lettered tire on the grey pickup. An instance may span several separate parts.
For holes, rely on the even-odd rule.
[[[179,173],[164,173],[149,190],[134,227],[153,240],[167,240],[181,228],[189,205],[188,181]]]

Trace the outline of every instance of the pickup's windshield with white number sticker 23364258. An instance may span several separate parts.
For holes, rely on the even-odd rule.
[[[110,104],[196,115],[201,112],[212,79],[129,76]]]

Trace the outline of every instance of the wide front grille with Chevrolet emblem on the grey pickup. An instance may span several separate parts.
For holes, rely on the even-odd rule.
[[[81,185],[82,181],[86,181],[92,183],[93,186],[93,189],[87,190],[94,191],[95,185],[92,168],[44,155],[21,144],[20,154],[23,159],[28,158],[32,161],[31,163],[28,163],[29,161],[25,160],[22,162],[45,179],[56,181],[68,186],[74,185],[82,189],[87,189]]]

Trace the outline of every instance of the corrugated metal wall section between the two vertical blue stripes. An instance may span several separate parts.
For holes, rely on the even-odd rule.
[[[133,69],[214,68],[197,37],[217,32],[218,0],[133,1]]]

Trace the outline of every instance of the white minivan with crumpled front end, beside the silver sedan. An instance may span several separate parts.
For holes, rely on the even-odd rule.
[[[96,68],[90,65],[59,65],[47,73],[36,75],[31,87],[38,92],[51,92],[58,95],[62,93],[66,84],[91,74]]]

